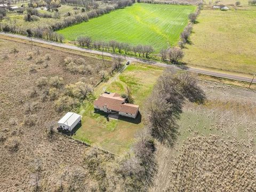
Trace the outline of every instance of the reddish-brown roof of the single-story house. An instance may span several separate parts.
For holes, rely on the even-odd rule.
[[[102,108],[106,105],[110,110],[130,114],[136,114],[139,109],[137,105],[125,103],[125,98],[120,97],[118,93],[103,93],[93,104]]]

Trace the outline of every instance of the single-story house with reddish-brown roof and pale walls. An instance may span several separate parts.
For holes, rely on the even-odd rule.
[[[94,110],[131,118],[136,118],[139,111],[138,105],[126,103],[125,98],[122,98],[118,93],[105,92],[94,101],[93,105]]]

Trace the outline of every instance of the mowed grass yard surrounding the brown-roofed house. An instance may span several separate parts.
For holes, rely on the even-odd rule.
[[[135,141],[135,135],[142,129],[145,119],[145,101],[153,90],[157,78],[162,74],[163,68],[132,63],[123,73],[112,77],[108,82],[102,83],[94,91],[95,99],[103,91],[125,93],[126,86],[130,86],[134,104],[140,106],[141,118],[109,119],[103,114],[95,114],[93,101],[81,108],[83,116],[82,127],[78,129],[73,138],[101,147],[115,154],[129,150]]]

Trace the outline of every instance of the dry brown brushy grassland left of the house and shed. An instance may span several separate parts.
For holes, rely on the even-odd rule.
[[[95,85],[100,81],[96,71],[70,73],[61,65],[64,59],[83,58],[92,69],[108,71],[111,62],[105,61],[104,67],[100,59],[38,46],[31,51],[29,44],[4,39],[0,50],[0,191],[33,191],[37,180],[39,191],[56,191],[61,185],[63,191],[98,191],[99,181],[84,164],[89,148],[56,132],[47,136],[46,123],[56,122],[65,112],[58,113],[54,101],[43,100],[44,88],[37,87],[37,79],[59,76],[66,85],[83,78]]]

